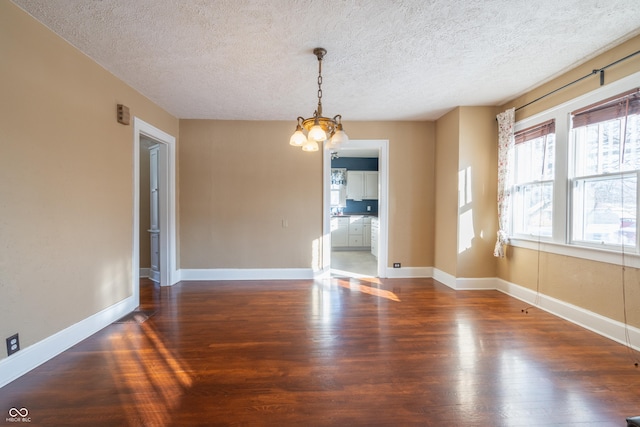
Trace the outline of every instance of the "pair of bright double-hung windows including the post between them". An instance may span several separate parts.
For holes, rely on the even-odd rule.
[[[638,253],[640,88],[580,103],[515,132],[511,233]]]

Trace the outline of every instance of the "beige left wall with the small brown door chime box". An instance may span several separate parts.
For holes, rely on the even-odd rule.
[[[27,347],[131,294],[133,127],[116,104],[178,121],[8,1],[0,58],[0,337]]]

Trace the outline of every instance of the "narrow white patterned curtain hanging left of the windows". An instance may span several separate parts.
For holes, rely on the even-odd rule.
[[[498,239],[493,250],[495,257],[504,258],[509,243],[509,203],[511,201],[511,172],[513,164],[513,127],[516,110],[511,108],[498,114]]]

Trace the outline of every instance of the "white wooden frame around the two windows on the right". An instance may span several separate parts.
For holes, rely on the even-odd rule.
[[[513,234],[511,222],[510,244],[544,252],[567,255],[611,264],[627,265],[640,268],[640,248],[630,248],[635,252],[621,250],[620,247],[600,247],[582,242],[571,242],[570,239],[570,174],[569,159],[572,159],[570,131],[571,112],[594,104],[606,98],[618,95],[633,88],[640,87],[640,72],[602,86],[592,92],[571,101],[552,107],[546,111],[516,122],[515,132],[555,119],[555,183],[553,192],[553,231],[552,236],[524,236]],[[513,196],[512,196],[513,197]],[[639,200],[640,203],[640,200]]]

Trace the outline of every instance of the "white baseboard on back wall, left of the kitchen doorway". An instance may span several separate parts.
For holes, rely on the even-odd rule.
[[[181,280],[303,280],[313,279],[310,268],[216,268],[180,270]]]

